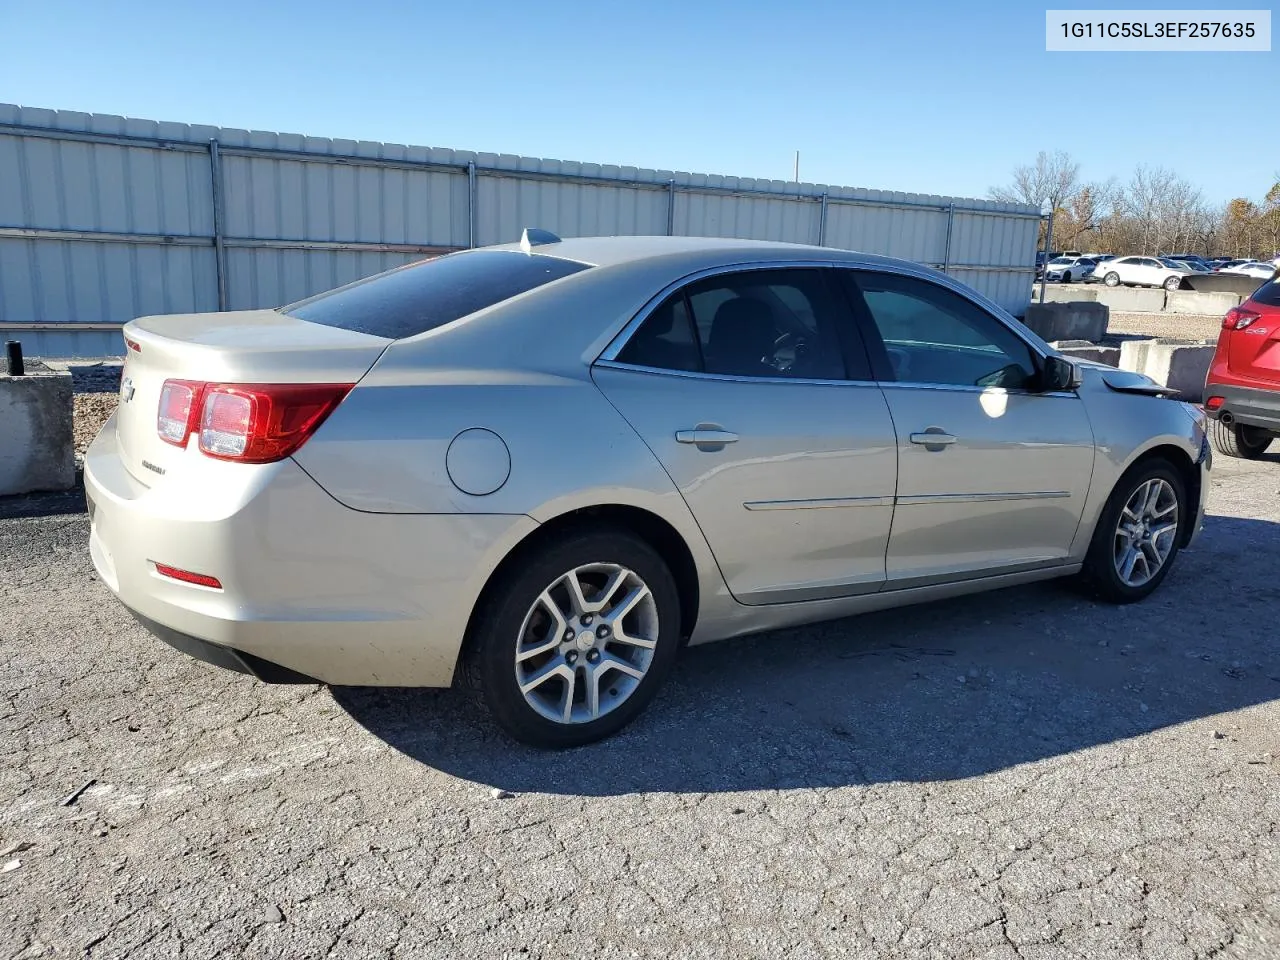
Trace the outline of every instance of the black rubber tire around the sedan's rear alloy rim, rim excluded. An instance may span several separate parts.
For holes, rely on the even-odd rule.
[[[590,563],[617,563],[644,581],[657,607],[657,645],[644,678],[622,703],[599,719],[561,723],[525,700],[516,677],[516,646],[538,596],[567,571]],[[676,580],[653,547],[623,529],[568,530],[536,544],[499,573],[479,603],[461,663],[461,680],[484,701],[503,731],[534,746],[581,746],[617,733],[657,694],[680,649]]]

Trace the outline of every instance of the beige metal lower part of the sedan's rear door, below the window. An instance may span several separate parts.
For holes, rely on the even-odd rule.
[[[776,603],[881,589],[896,438],[878,387],[608,364],[594,378],[680,488],[735,598]],[[699,426],[736,439],[677,436]]]

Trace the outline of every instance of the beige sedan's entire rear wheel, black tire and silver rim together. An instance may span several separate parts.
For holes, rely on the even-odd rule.
[[[516,740],[603,740],[639,714],[680,646],[680,594],[662,557],[626,530],[570,531],[485,590],[463,680]]]

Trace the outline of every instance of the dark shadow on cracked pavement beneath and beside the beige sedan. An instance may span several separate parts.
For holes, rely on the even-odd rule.
[[[692,648],[631,727],[563,753],[512,744],[453,691],[333,695],[408,756],[520,792],[973,777],[1280,698],[1280,590],[1224,588],[1277,561],[1280,525],[1211,517],[1140,604],[1050,582]]]

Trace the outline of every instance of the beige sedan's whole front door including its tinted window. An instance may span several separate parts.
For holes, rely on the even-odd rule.
[[[1065,562],[1093,471],[1083,401],[1038,392],[1029,344],[954,291],[870,271],[852,285],[897,428],[887,586]]]

